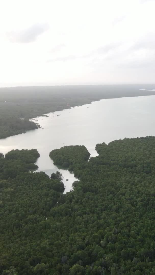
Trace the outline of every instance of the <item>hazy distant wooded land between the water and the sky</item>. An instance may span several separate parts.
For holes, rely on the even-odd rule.
[[[0,138],[38,126],[28,119],[105,98],[155,95],[155,84],[0,88]],[[21,123],[21,118],[25,118]]]

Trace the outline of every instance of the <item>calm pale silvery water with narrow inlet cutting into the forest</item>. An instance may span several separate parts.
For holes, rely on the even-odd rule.
[[[37,118],[42,128],[0,140],[0,152],[36,148],[39,169],[48,175],[60,171],[65,192],[70,191],[74,174],[58,169],[49,152],[64,145],[85,145],[96,156],[95,145],[123,138],[155,135],[155,95],[95,101]],[[60,115],[60,116],[57,116]],[[69,179],[69,181],[66,181]]]

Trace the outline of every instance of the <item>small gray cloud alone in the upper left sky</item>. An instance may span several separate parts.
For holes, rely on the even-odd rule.
[[[7,33],[9,40],[14,43],[30,43],[34,42],[38,35],[47,31],[48,24],[34,24],[31,27],[24,29],[20,32]]]

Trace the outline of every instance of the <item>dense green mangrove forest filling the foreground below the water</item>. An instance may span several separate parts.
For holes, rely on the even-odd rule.
[[[34,172],[39,153],[0,154],[0,274],[155,274],[155,137],[50,152],[80,181]]]

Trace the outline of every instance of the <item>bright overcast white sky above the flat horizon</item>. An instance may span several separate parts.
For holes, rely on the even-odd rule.
[[[155,0],[1,0],[0,86],[155,83]]]

